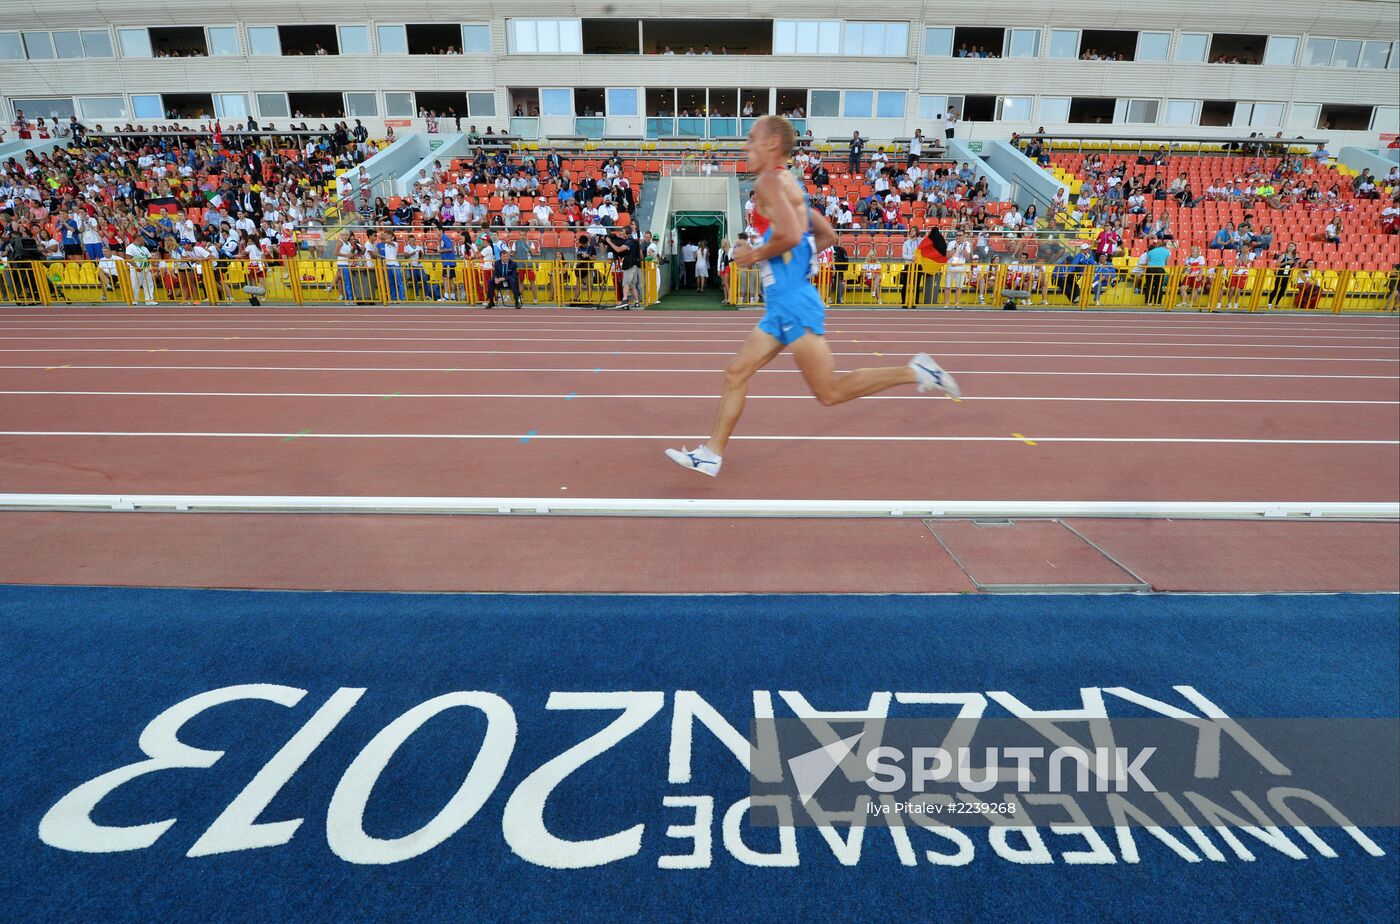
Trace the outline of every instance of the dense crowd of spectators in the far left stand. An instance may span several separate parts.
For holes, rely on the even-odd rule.
[[[363,129],[363,126],[360,126]],[[315,136],[73,133],[48,154],[0,164],[0,256],[98,260],[133,273],[143,301],[172,266],[246,259],[260,273],[321,228],[328,182],[375,147],[343,123]]]

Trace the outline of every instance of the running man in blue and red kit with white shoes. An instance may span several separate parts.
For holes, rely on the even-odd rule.
[[[836,360],[826,343],[826,305],[812,286],[816,256],[836,244],[836,232],[811,207],[806,192],[785,169],[795,141],[797,132],[783,116],[763,116],[749,130],[745,154],[749,171],[757,176],[753,227],[762,237],[757,246],[741,244],[735,248],[734,262],[759,267],[766,311],[724,368],[724,393],[710,438],[690,451],[666,449],[680,468],[711,477],[720,473],[725,444],[743,413],[749,379],[784,347],[792,349],[812,396],[826,406],[896,385],[917,385],[921,392],[938,391],[953,398],[962,393],[953,377],[927,353],[920,353],[907,365],[836,372]]]

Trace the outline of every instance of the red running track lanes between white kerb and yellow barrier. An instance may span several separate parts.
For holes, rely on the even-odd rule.
[[[840,368],[928,350],[966,400],[839,407],[759,374],[757,315],[480,309],[0,314],[0,486],[49,493],[1400,498],[1394,318],[837,311]],[[567,494],[564,494],[567,491]]]

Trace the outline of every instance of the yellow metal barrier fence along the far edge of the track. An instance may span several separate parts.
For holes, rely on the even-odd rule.
[[[525,305],[617,304],[622,276],[608,260],[518,263]],[[1025,263],[826,265],[813,280],[832,307],[871,308],[1121,308],[1133,311],[1327,311],[1400,309],[1400,273],[1385,270],[1294,270],[1270,267],[1044,266]],[[755,267],[732,267],[725,294],[738,307],[763,304]],[[659,273],[641,267],[645,304],[657,301]],[[144,267],[104,260],[0,260],[0,304],[62,305],[396,305],[514,304],[515,294],[489,263],[382,259],[337,262],[294,258],[181,260],[154,258]]]

